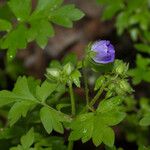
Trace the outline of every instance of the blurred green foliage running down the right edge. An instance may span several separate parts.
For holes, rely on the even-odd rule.
[[[138,85],[143,81],[149,83],[150,59],[145,57],[150,53],[149,0],[117,0],[115,3],[109,0],[97,0],[97,2],[104,6],[102,19],[109,20],[114,17],[118,35],[128,33],[134,42],[134,48],[140,53],[136,55],[135,68],[128,71],[128,75],[132,77],[133,84]],[[132,98],[132,101],[137,100]],[[146,134],[149,132],[148,101],[149,98],[141,97],[138,103],[141,107],[137,108],[137,104],[134,104],[134,107],[130,110],[132,116],[127,117],[129,125],[128,129],[125,130],[127,140],[136,142],[140,150],[149,149],[149,147],[143,146],[149,144],[147,141],[148,135]],[[133,128],[134,130],[132,131]],[[136,131],[139,132],[139,135],[136,135]]]

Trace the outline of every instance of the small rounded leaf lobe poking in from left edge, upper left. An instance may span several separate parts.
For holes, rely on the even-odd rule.
[[[9,32],[12,29],[12,25],[9,21],[0,19],[0,31]]]

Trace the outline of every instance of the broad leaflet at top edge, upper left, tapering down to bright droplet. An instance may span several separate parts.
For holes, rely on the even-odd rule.
[[[18,21],[26,21],[28,19],[31,12],[31,0],[10,0],[8,4]]]

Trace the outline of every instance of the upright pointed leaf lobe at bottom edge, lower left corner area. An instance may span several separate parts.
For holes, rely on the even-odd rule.
[[[23,149],[29,149],[34,142],[34,130],[31,128],[26,135],[21,137]]]

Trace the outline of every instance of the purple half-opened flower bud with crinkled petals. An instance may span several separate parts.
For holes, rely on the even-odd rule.
[[[96,63],[107,64],[113,62],[115,59],[114,46],[108,40],[95,42],[91,50],[96,52],[96,56],[93,57]]]

